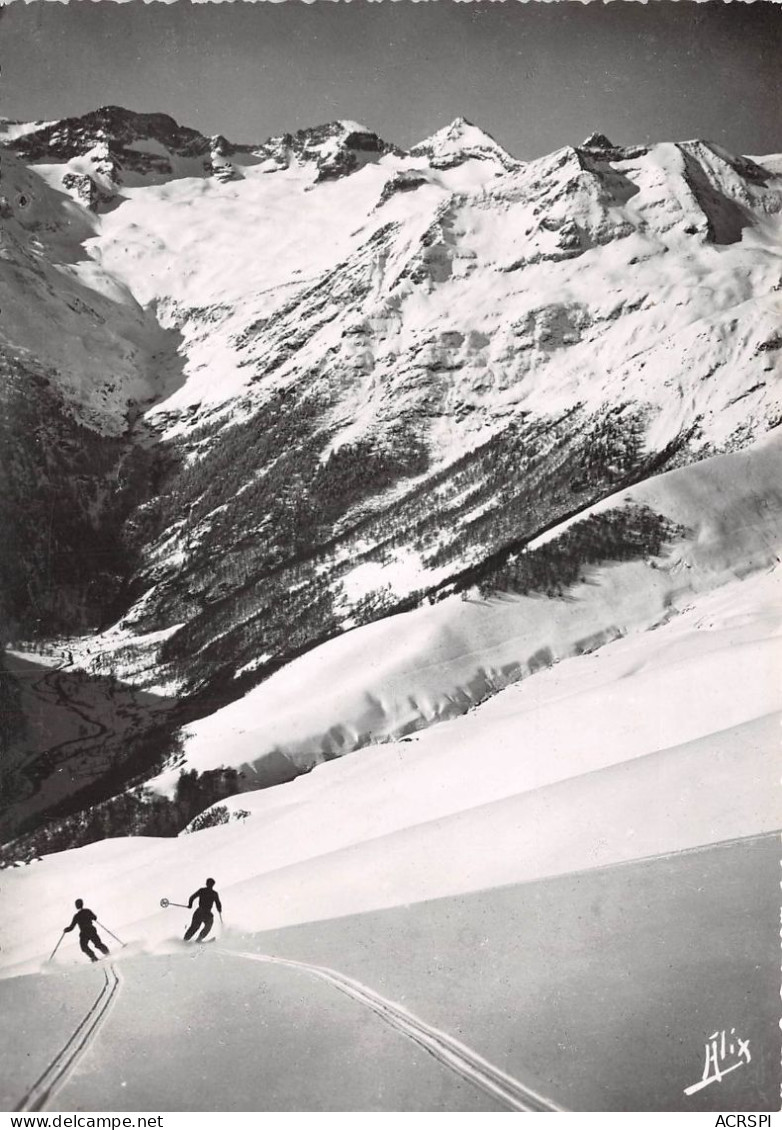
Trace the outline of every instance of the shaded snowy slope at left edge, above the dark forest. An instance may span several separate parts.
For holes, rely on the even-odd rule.
[[[12,153],[2,157],[0,347],[53,382],[77,419],[104,435],[179,382],[179,334],[84,251],[85,209]]]

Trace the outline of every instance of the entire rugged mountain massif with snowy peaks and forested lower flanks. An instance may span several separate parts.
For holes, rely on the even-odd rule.
[[[62,546],[89,527],[112,560],[111,584],[77,568],[111,600],[25,616],[51,560],[29,522],[11,631],[196,713],[348,628],[506,589],[546,531],[782,419],[774,162],[596,133],[522,164],[462,119],[409,153],[355,122],[234,145],[116,107],[5,136],[10,528],[32,480],[76,515]],[[23,386],[54,420],[45,472]],[[659,510],[619,525],[590,528],[591,563],[683,536]],[[577,580],[574,544],[529,591]]]

